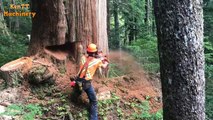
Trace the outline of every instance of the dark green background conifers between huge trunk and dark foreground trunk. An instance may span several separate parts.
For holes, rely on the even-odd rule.
[[[109,46],[111,49],[118,49],[122,45],[130,44],[130,39],[135,40],[144,35],[155,34],[152,30],[155,29],[152,3],[149,2],[148,18],[145,23],[144,0],[109,0]],[[118,13],[119,24],[115,24],[114,21],[116,13]]]

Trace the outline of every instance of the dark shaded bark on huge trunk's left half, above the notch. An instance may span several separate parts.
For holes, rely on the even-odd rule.
[[[29,55],[34,55],[46,46],[65,44],[66,17],[63,0],[31,0],[32,33]]]

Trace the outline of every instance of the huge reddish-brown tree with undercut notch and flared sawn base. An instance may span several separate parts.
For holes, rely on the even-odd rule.
[[[3,66],[0,71],[8,85],[18,85],[21,83],[19,81],[24,80],[23,76],[28,76],[29,81],[35,83],[54,81],[55,75],[47,68],[51,65],[39,61],[40,57],[47,58],[60,73],[65,73],[67,61],[78,63],[89,43],[97,44],[107,54],[106,4],[106,0],[31,0],[32,11],[36,12],[36,16],[32,18],[28,50],[31,57],[24,57]],[[33,66],[33,63],[40,65]],[[27,68],[25,65],[30,65],[27,75],[22,72]],[[73,68],[75,71],[75,65]],[[37,70],[44,72],[36,77]],[[16,74],[20,76],[19,79],[13,77]],[[17,84],[13,84],[16,81]]]

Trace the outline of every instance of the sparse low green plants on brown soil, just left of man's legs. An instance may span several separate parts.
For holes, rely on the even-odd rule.
[[[42,91],[44,92],[44,94],[42,95],[43,98],[40,98],[41,96],[39,94],[41,94]],[[41,116],[40,119],[61,120],[65,116],[71,115],[69,100],[67,99],[68,95],[65,93],[61,93],[61,91],[58,88],[56,88],[56,86],[47,85],[47,86],[40,87],[40,90],[38,90],[37,88],[34,88],[33,93],[37,94],[37,98],[39,99],[49,100],[42,104],[43,116]],[[51,94],[48,94],[48,93],[51,93]]]

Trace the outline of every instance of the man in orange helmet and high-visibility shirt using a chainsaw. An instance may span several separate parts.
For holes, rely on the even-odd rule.
[[[95,71],[100,68],[106,68],[108,66],[108,60],[107,59],[99,59],[102,57],[98,56],[98,50],[97,46],[95,44],[89,44],[87,47],[87,54],[88,56],[82,56],[80,61],[80,70],[78,73],[78,78],[76,79],[76,83],[82,83],[81,85],[78,84],[77,90],[74,90],[74,92],[78,92],[81,94],[81,87],[86,92],[89,102],[90,102],[90,120],[98,120],[98,113],[97,113],[97,98],[95,90],[91,84],[91,80],[93,79],[93,76],[95,74]],[[75,85],[75,82],[71,82],[71,86]],[[74,99],[77,96],[75,96]]]

